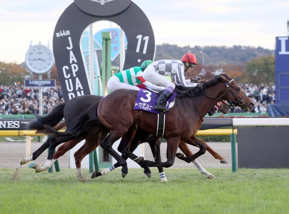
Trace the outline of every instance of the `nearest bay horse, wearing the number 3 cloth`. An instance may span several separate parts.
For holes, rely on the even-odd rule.
[[[137,91],[116,90],[102,99],[97,107],[100,122],[110,129],[109,135],[100,143],[101,147],[112,155],[122,166],[122,176],[125,177],[128,169],[126,160],[112,149],[113,143],[122,137],[118,150],[142,166],[170,167],[174,164],[175,156],[186,162],[192,162],[206,151],[205,144],[195,136],[201,127],[204,116],[219,100],[226,100],[244,111],[251,111],[254,107],[251,99],[246,96],[241,87],[226,74],[214,76],[205,82],[203,89],[179,88],[176,103],[166,114],[166,129],[164,138],[167,140],[167,161],[153,162],[137,157],[129,151],[136,129],[139,127],[145,132],[154,134],[157,129],[157,115],[147,111],[137,111],[133,107]],[[184,157],[176,154],[180,141],[196,143],[200,150],[191,156]]]

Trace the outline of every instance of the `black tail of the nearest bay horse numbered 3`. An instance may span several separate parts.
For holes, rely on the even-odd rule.
[[[100,101],[94,103],[80,116],[76,117],[71,123],[73,125],[68,127],[65,132],[59,132],[51,128],[49,125],[44,125],[44,133],[55,137],[73,136],[76,138],[88,133],[92,129],[92,127],[101,126],[102,128],[105,128],[105,126],[100,122],[97,116],[97,107],[99,105],[99,102]]]

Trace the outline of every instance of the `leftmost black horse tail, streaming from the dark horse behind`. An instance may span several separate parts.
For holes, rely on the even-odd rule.
[[[63,118],[64,107],[67,104],[61,103],[56,106],[47,116],[35,115],[36,118],[28,123],[28,130],[37,130],[37,132],[44,129],[44,125],[55,126]]]

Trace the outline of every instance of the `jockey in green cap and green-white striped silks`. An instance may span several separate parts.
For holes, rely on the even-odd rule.
[[[143,83],[147,88],[154,91],[165,90],[164,87],[153,85],[152,83],[144,79],[143,71],[151,63],[153,63],[152,60],[145,60],[140,67],[129,68],[127,70],[114,74],[107,81],[107,88],[110,91],[115,91],[117,89],[140,90],[140,88],[136,85]]]

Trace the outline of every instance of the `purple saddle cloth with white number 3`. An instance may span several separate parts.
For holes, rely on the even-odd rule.
[[[175,104],[175,97],[177,96],[177,93],[173,91],[173,95],[169,97],[169,100],[167,101],[167,107],[171,108]],[[135,110],[141,110],[141,111],[149,111],[155,114],[158,114],[159,111],[156,111],[153,109],[153,106],[157,103],[159,94],[149,91],[140,89],[136,96],[136,103],[133,109]],[[166,113],[166,112],[165,112]]]

